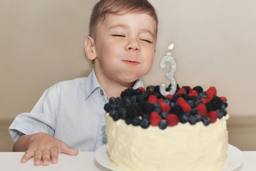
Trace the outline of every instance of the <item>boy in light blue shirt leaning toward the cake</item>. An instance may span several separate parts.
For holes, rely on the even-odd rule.
[[[92,12],[87,57],[94,62],[86,78],[48,88],[30,113],[9,128],[13,151],[26,151],[21,162],[58,162],[59,153],[77,155],[106,143],[103,109],[108,97],[143,86],[155,54],[158,19],[147,0],[101,0]],[[77,150],[78,149],[78,150]]]

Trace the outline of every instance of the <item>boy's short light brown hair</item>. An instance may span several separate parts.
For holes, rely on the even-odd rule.
[[[158,17],[155,8],[148,0],[100,0],[93,8],[89,36],[95,38],[97,25],[109,15],[122,15],[126,13],[148,14],[156,21],[156,36],[158,33]]]

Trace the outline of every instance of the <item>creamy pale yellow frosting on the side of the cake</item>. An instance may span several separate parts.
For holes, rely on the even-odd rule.
[[[124,171],[218,171],[226,159],[228,118],[208,126],[178,123],[162,130],[113,121],[107,113],[107,151]]]

